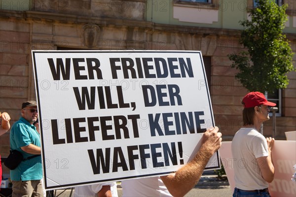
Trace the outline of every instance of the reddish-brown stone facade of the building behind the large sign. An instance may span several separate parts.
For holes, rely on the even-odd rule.
[[[2,1],[0,10],[0,111],[8,112],[12,123],[20,116],[21,103],[36,99],[31,50],[135,49],[202,51],[210,65],[214,117],[223,139],[231,140],[242,125],[240,100],[248,91],[235,79],[237,71],[227,58],[242,50],[239,30],[154,23],[147,18],[146,0],[19,2]],[[289,10],[296,15],[296,7]],[[296,34],[287,33],[287,38],[295,53]],[[276,117],[277,139],[296,130],[296,73],[288,76],[290,84],[281,94],[282,113]],[[272,134],[272,121],[264,125],[263,133]],[[0,137],[0,154],[8,153],[9,132]]]

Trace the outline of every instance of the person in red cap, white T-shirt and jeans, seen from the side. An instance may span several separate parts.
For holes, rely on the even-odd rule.
[[[237,131],[231,143],[234,161],[235,189],[233,197],[270,197],[268,183],[274,177],[271,150],[274,138],[265,138],[259,129],[269,120],[268,106],[275,106],[259,92],[247,94],[243,100],[244,127]]]

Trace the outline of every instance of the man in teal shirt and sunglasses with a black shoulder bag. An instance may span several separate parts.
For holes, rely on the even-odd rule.
[[[13,124],[10,131],[10,148],[18,150],[24,159],[41,154],[40,136],[33,123],[37,120],[37,103],[29,100],[22,104],[22,117]],[[12,196],[43,196],[41,157],[22,161],[10,170]]]

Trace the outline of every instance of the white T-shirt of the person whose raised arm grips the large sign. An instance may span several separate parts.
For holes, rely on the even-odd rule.
[[[124,180],[122,197],[172,197],[160,177]]]

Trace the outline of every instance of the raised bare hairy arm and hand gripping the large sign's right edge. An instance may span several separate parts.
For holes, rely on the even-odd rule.
[[[161,176],[169,192],[174,197],[183,197],[199,181],[206,164],[221,147],[222,133],[217,127],[207,130],[202,138],[202,145],[193,160],[178,169],[176,173]]]

